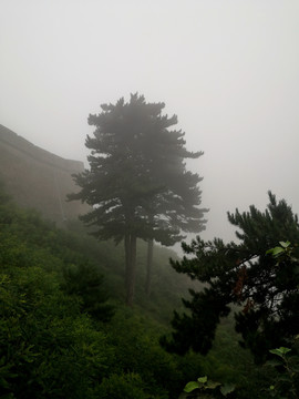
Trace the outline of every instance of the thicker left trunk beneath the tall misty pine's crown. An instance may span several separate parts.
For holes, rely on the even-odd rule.
[[[136,278],[136,237],[132,234],[125,236],[125,285],[127,306],[133,306]]]

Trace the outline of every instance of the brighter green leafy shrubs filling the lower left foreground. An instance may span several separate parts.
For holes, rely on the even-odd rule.
[[[16,398],[93,398],[112,349],[35,253],[1,234],[0,385]],[[111,358],[111,359],[110,359]],[[82,372],[84,370],[84,372]]]

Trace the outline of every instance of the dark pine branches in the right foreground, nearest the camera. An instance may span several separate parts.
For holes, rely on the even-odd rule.
[[[172,339],[162,338],[168,350],[184,354],[192,348],[207,354],[216,327],[231,305],[237,309],[235,328],[243,336],[241,345],[250,348],[257,362],[265,360],[269,349],[299,334],[298,262],[278,263],[267,253],[279,242],[298,243],[298,217],[270,192],[269,200],[265,213],[254,205],[243,214],[238,209],[228,213],[229,222],[238,227],[239,244],[197,237],[183,245],[184,252],[195,257],[172,262],[173,267],[206,287],[190,290],[192,299],[183,300],[188,314],[175,313]]]

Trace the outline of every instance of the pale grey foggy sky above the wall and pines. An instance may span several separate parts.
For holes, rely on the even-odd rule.
[[[299,212],[298,0],[1,0],[0,123],[85,162],[87,115],[138,92],[177,114],[204,176],[204,236],[226,212]]]

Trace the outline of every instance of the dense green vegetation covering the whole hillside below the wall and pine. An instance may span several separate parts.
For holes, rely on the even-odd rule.
[[[231,397],[268,398],[275,374],[238,346],[230,319],[206,357],[159,346],[192,285],[168,266],[174,253],[156,248],[152,297],[141,288],[127,308],[122,247],[96,243],[75,222],[60,231],[17,208],[3,191],[0,236],[1,397],[176,399],[187,381],[208,375],[234,383]],[[146,243],[137,254],[142,283]]]

